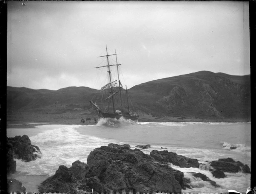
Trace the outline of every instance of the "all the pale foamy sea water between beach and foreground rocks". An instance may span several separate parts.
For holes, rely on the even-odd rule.
[[[100,119],[95,125],[40,125],[37,128],[8,128],[7,136],[26,134],[33,145],[39,146],[41,158],[31,162],[16,160],[17,172],[9,178],[21,181],[28,192],[38,192],[37,186],[55,174],[60,165],[70,167],[72,162],[87,162],[93,149],[109,143],[136,145],[150,144],[141,149],[146,154],[152,150],[168,150],[196,158],[200,168],[175,169],[190,179],[192,189],[182,193],[221,193],[233,189],[245,193],[250,186],[250,174],[226,173],[217,179],[209,171],[209,161],[233,158],[251,167],[251,123],[133,123],[132,121]],[[162,148],[166,149],[162,149]],[[236,147],[236,149],[230,149]],[[193,177],[190,172],[200,172],[220,187]]]

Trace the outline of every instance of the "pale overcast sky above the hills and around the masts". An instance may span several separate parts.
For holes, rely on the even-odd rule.
[[[8,1],[7,86],[100,89],[106,45],[128,88],[202,70],[250,74],[249,2],[22,3]]]

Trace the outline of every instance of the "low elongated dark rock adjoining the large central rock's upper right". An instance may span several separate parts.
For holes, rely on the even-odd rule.
[[[150,156],[152,156],[158,162],[170,162],[175,166],[186,167],[186,168],[189,168],[189,167],[199,168],[199,162],[197,159],[187,158],[185,156],[178,155],[173,152],[168,152],[167,150],[163,150],[163,151],[153,150],[150,153]]]

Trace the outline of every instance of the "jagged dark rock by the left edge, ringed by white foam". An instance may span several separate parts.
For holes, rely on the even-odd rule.
[[[27,135],[15,136],[15,138],[7,138],[7,155],[10,158],[22,159],[25,162],[40,158],[41,151],[37,146],[31,145],[31,141]],[[10,160],[11,166],[13,165]]]

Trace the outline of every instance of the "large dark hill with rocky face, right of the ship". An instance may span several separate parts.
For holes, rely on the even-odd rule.
[[[249,118],[251,112],[250,75],[199,71],[143,83],[130,94],[138,108],[150,104],[173,116]]]

